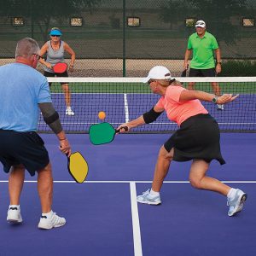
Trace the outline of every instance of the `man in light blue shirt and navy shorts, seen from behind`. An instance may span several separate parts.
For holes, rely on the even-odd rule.
[[[52,211],[53,177],[49,154],[37,130],[38,107],[44,121],[60,140],[61,152],[70,156],[71,148],[53,108],[47,79],[35,69],[40,58],[38,43],[21,39],[16,47],[15,63],[0,67],[0,161],[9,174],[10,205],[7,221],[21,223],[20,194],[25,169],[38,172],[38,195],[42,216],[38,228],[52,229],[66,224]]]

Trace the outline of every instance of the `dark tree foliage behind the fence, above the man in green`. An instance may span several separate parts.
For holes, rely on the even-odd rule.
[[[231,19],[251,13],[251,8],[247,0],[169,0],[160,9],[160,17],[170,23],[177,23],[186,17],[205,20],[207,29],[218,41],[236,44],[241,35],[237,24],[233,24]]]

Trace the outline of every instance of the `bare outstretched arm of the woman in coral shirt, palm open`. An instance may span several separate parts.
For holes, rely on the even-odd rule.
[[[224,94],[223,96],[217,97],[216,103],[225,104],[228,102],[233,102],[238,96],[239,95],[233,96],[232,94]],[[183,90],[179,97],[179,101],[187,102],[197,99],[205,102],[212,102],[212,99],[215,97],[216,96],[214,94],[207,93],[201,90]]]

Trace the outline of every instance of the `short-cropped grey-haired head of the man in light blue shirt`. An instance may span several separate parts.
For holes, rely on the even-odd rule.
[[[16,46],[15,57],[29,58],[34,54],[38,54],[40,50],[38,42],[32,38],[21,39]]]

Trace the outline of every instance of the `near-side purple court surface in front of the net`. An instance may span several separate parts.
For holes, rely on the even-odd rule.
[[[137,204],[151,186],[154,164],[167,134],[124,134],[93,146],[89,135],[67,135],[73,152],[89,163],[87,181],[74,183],[67,158],[52,134],[41,135],[53,166],[53,210],[67,218],[54,230],[38,230],[36,177],[26,175],[20,207],[23,224],[6,222],[8,175],[0,166],[0,255],[256,255],[256,133],[222,133],[227,164],[208,172],[247,192],[244,210],[230,218],[226,198],[193,189],[189,162],[172,162],[161,190],[162,204]]]

